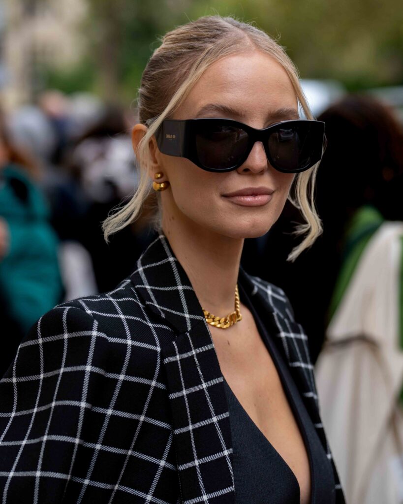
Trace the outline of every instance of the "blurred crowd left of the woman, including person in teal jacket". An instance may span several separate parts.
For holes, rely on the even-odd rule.
[[[151,241],[153,201],[109,244],[101,230],[136,189],[134,121],[134,112],[116,104],[56,90],[0,113],[2,375],[43,313],[113,289]]]

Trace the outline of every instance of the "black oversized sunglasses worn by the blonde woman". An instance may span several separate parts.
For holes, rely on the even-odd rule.
[[[273,168],[297,173],[320,161],[326,147],[324,122],[310,119],[281,121],[262,130],[218,117],[165,119],[155,136],[163,154],[184,157],[207,171],[235,170],[260,141]]]

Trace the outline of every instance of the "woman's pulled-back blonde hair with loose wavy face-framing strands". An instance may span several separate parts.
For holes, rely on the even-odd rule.
[[[102,223],[105,240],[139,217],[143,203],[152,193],[149,141],[162,121],[169,117],[185,100],[190,89],[200,76],[219,59],[245,50],[259,50],[278,61],[287,72],[299,106],[306,118],[313,119],[307,100],[299,83],[298,70],[284,48],[264,31],[249,23],[232,17],[203,16],[195,21],[178,26],[162,37],[143,72],[138,90],[139,121],[147,125],[147,132],[136,150],[140,167],[139,184],[131,200]],[[314,206],[314,185],[319,163],[294,179],[295,198],[288,200],[301,211],[306,221],[298,224],[293,234],[306,234],[299,245],[293,248],[287,261],[294,261],[305,248],[310,247],[321,234],[322,226]],[[290,191],[291,192],[291,191]],[[161,231],[161,202],[157,196],[158,211],[152,224]]]

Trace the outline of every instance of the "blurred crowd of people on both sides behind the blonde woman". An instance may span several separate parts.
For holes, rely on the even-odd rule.
[[[315,189],[323,233],[287,262],[292,231],[303,223],[287,201],[268,233],[245,240],[241,263],[285,290],[309,335],[348,501],[393,502],[394,475],[403,474],[402,124],[360,94],[344,95],[317,119],[327,139]],[[136,120],[135,111],[92,95],[55,90],[0,114],[1,374],[43,313],[113,289],[154,239],[153,194],[109,244],[101,230],[136,190]]]

